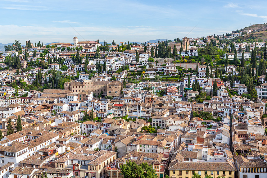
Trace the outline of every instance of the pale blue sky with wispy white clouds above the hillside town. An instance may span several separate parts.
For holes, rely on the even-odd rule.
[[[266,23],[267,1],[0,0],[0,43],[111,43],[230,33]],[[81,35],[77,34],[70,25]]]

